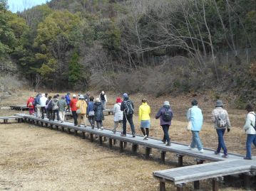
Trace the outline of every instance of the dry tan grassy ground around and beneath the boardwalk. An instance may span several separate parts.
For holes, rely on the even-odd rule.
[[[25,104],[29,95],[34,94],[36,93],[29,91],[17,92],[4,99],[0,107]],[[109,93],[107,96],[108,107],[111,108],[119,95]],[[137,110],[143,97],[143,94],[130,96]],[[153,116],[163,101],[169,100],[175,115],[170,129],[171,139],[190,143],[191,135],[185,131],[185,111],[190,107],[193,97],[180,95],[145,98],[152,109],[150,136],[163,136],[159,121],[153,119]],[[198,99],[205,118],[203,130],[200,132],[203,145],[216,148],[217,134],[210,123],[214,100],[205,95],[195,98]],[[225,97],[225,103],[231,101],[232,97]],[[232,109],[229,104],[225,107],[232,124],[232,130],[225,135],[228,151],[245,154],[246,136],[242,126],[246,112]],[[18,112],[0,109],[0,116],[15,113]],[[136,114],[134,121],[136,131],[141,133]],[[113,126],[113,116],[106,116],[103,126]],[[80,137],[30,124],[0,124],[0,129],[0,190],[158,190],[158,181],[154,180],[153,171],[175,167],[170,163],[161,165],[154,158],[144,160],[143,148],[140,148],[138,155],[119,153],[117,148],[109,149],[107,144],[99,146],[98,143],[91,143]],[[252,149],[252,154],[256,155],[256,149]],[[158,158],[157,151],[154,151],[153,157]],[[167,160],[172,159],[173,156],[168,154]],[[195,162],[193,158],[185,158],[185,163],[192,165]],[[210,190],[210,181],[202,181],[201,185],[202,190]],[[171,185],[168,185],[168,189],[176,190]],[[192,189],[192,185],[188,184],[187,189]],[[222,186],[220,190],[242,189]]]

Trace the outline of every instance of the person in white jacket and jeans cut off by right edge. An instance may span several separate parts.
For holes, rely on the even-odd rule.
[[[246,140],[246,156],[244,159],[252,160],[251,145],[252,143],[256,146],[256,131],[255,131],[255,112],[253,111],[252,104],[247,104],[245,107],[247,115],[245,119],[244,130],[247,133]]]

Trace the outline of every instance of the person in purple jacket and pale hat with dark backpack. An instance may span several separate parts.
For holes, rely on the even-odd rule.
[[[163,107],[161,107],[158,113],[155,115],[155,119],[160,118],[160,126],[163,128],[163,143],[166,143],[166,146],[170,146],[170,137],[169,137],[169,127],[173,119],[173,111],[170,108],[170,103],[168,101],[163,102]]]

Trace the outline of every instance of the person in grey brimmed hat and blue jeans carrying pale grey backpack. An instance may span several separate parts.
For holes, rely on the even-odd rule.
[[[214,152],[215,155],[220,154],[220,150],[223,150],[223,158],[227,158],[227,148],[225,146],[224,141],[224,133],[227,129],[227,132],[230,132],[230,119],[228,117],[227,111],[223,109],[223,102],[221,99],[218,99],[215,104],[215,109],[212,112],[212,121],[214,123],[214,127],[217,131],[217,150]]]

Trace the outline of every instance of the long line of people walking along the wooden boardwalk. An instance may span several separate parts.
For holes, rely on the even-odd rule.
[[[54,95],[53,99],[51,96],[47,97],[47,94],[38,94],[35,98],[29,97],[27,101],[27,106],[29,107],[29,114],[35,113],[35,115],[41,119],[44,118],[44,114],[47,115],[48,120],[54,120],[55,116],[58,121],[63,122],[65,119],[65,111],[72,112],[74,125],[81,126],[81,121],[87,126],[86,118],[90,123],[92,129],[96,128],[98,130],[103,130],[103,120],[104,114],[103,110],[106,109],[107,97],[105,92],[101,92],[98,98],[94,99],[90,92],[86,95],[73,94],[70,98],[70,93],[68,92],[65,96]],[[198,149],[200,153],[203,153],[203,144],[200,140],[200,131],[203,126],[203,113],[198,107],[198,101],[193,100],[191,102],[192,107],[187,111],[187,119],[190,124],[188,129],[192,133],[192,141],[188,146],[188,149],[193,150]],[[224,134],[229,132],[231,129],[230,119],[227,114],[227,110],[223,109],[224,104],[222,100],[217,100],[215,104],[215,109],[212,112],[212,121],[217,132],[218,146],[215,151],[215,155],[219,155],[221,149],[223,150],[223,158],[227,158],[227,148],[225,146]],[[35,109],[35,110],[34,110]],[[122,127],[121,136],[126,136],[127,122],[130,124],[130,129],[132,136],[135,137],[135,126],[133,123],[134,114],[134,104],[133,101],[129,99],[128,94],[123,94],[123,100],[121,97],[116,98],[116,104],[113,106],[113,133],[116,133],[116,129],[120,124]],[[256,116],[253,111],[252,104],[247,104],[246,107],[247,116],[245,119],[244,130],[247,133],[246,141],[246,156],[245,159],[251,160],[251,145],[252,143],[256,147]],[[149,129],[150,129],[150,106],[147,103],[147,99],[141,100],[141,105],[138,109],[138,120],[140,121],[140,129],[143,133],[143,140],[148,140]],[[166,146],[171,146],[169,128],[171,121],[173,119],[173,110],[170,107],[170,103],[165,101],[163,106],[160,107],[157,114],[155,114],[155,119],[160,119],[160,126],[163,129],[163,143]],[[96,124],[96,125],[95,125]]]

